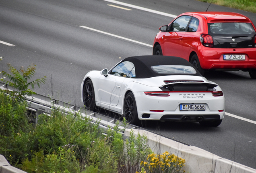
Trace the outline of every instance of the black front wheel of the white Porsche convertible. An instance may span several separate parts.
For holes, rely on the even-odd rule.
[[[85,105],[85,109],[95,111],[95,93],[93,82],[90,79],[85,82],[83,87],[83,103]]]

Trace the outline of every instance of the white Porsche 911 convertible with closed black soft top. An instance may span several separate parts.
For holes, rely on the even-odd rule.
[[[110,70],[90,71],[81,84],[81,100],[86,109],[101,107],[134,125],[159,120],[218,126],[225,114],[219,85],[174,56],[133,56]]]

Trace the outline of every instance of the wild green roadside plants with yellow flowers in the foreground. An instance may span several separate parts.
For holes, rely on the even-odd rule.
[[[2,58],[0,58],[2,59]],[[8,64],[10,74],[2,72],[2,82],[15,91],[0,89],[0,154],[8,162],[28,173],[178,173],[185,161],[175,155],[155,155],[145,135],[123,140],[119,122],[103,131],[80,112],[65,113],[52,106],[50,114],[41,114],[35,125],[27,111],[26,95],[33,84],[35,65],[16,70]],[[124,119],[124,127],[127,123]]]

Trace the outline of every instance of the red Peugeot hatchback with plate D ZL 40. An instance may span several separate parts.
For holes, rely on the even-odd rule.
[[[256,78],[256,28],[233,12],[188,12],[161,26],[153,55],[182,57],[205,70],[243,70]]]

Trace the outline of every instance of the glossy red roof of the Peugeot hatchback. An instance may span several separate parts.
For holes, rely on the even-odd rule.
[[[235,12],[188,12],[183,14],[190,14],[190,15],[198,14],[198,15],[204,16],[208,22],[217,22],[217,21],[251,22],[248,17]]]

